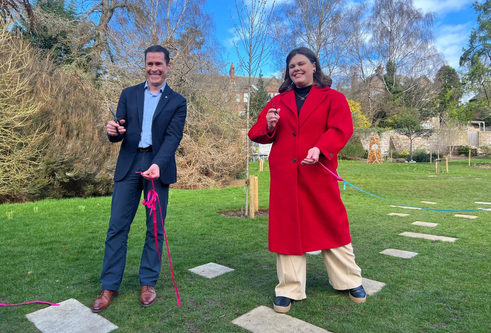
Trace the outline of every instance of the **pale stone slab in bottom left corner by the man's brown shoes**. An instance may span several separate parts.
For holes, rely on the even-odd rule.
[[[118,328],[76,299],[26,314],[42,333],[107,333]]]

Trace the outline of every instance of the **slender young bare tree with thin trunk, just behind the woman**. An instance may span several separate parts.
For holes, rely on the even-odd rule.
[[[239,58],[240,69],[248,76],[247,91],[250,93],[252,77],[257,76],[261,66],[270,52],[271,41],[269,38],[269,28],[271,16],[274,9],[275,0],[268,5],[266,0],[251,0],[250,4],[242,1],[242,6],[238,0],[235,0],[235,9],[237,18],[232,20],[235,27],[235,35],[238,42],[235,43],[235,49]],[[246,112],[246,131],[250,127],[250,98],[247,99]],[[246,133],[246,177],[249,179],[249,158],[250,142]],[[245,215],[249,216],[249,184],[246,181],[245,193]]]

